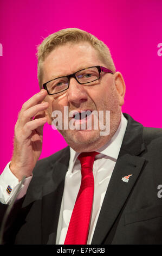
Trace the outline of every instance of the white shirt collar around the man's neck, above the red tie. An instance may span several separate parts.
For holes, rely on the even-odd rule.
[[[122,140],[125,135],[127,123],[128,123],[127,119],[124,117],[123,114],[121,114],[121,121],[115,134],[113,135],[110,141],[108,141],[100,149],[96,150],[96,152],[99,152],[102,155],[111,157],[116,161],[118,159]],[[69,171],[72,171],[74,163],[77,159],[77,156],[79,156],[79,154],[80,153],[77,153],[74,149],[70,148]]]

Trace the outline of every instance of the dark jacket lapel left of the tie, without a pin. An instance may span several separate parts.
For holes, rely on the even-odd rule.
[[[50,172],[48,182],[42,190],[42,244],[54,245],[59,222],[64,178],[68,169],[70,151],[64,149]]]

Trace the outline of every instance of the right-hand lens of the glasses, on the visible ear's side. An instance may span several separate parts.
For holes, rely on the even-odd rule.
[[[95,67],[84,69],[76,73],[76,78],[80,83],[90,83],[95,80],[98,80],[99,77],[99,71]]]

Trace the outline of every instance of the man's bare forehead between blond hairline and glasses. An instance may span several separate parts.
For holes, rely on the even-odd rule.
[[[43,62],[43,81],[69,75],[89,66],[102,65],[98,52],[88,42],[66,44],[50,52]]]

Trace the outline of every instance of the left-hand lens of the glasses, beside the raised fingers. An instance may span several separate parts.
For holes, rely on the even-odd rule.
[[[68,88],[68,78],[61,77],[47,83],[47,90],[50,94],[60,93]]]

